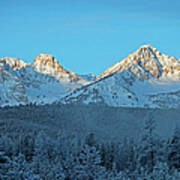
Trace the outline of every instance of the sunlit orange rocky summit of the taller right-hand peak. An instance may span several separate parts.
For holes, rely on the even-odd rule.
[[[162,54],[151,45],[143,45],[135,53],[107,69],[98,79],[125,71],[130,71],[139,79],[180,80],[180,60]]]

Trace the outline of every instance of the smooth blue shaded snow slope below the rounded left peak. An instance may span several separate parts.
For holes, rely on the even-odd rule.
[[[53,76],[35,71],[27,66],[15,72],[26,90],[28,100],[33,103],[52,103],[66,93],[66,88]]]

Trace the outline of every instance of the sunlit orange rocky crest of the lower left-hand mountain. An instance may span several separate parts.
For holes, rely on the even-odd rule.
[[[12,70],[22,69],[25,67],[33,67],[36,72],[41,74],[49,74],[55,77],[59,81],[67,82],[67,83],[78,83],[80,84],[87,84],[88,82],[84,80],[82,77],[78,76],[77,74],[73,73],[70,70],[65,70],[59,63],[58,60],[46,53],[39,54],[33,63],[25,63],[20,58],[12,58],[12,57],[5,57],[0,59],[0,66],[5,68],[6,70],[10,67]],[[79,86],[78,85],[78,86]]]

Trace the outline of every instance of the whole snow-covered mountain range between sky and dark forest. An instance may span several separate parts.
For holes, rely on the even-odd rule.
[[[100,103],[113,107],[180,107],[180,60],[150,45],[102,75],[77,75],[49,54],[33,63],[0,59],[0,105]]]

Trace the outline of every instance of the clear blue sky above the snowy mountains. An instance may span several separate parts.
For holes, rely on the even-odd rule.
[[[143,44],[180,58],[180,0],[0,0],[0,58],[101,74]]]

